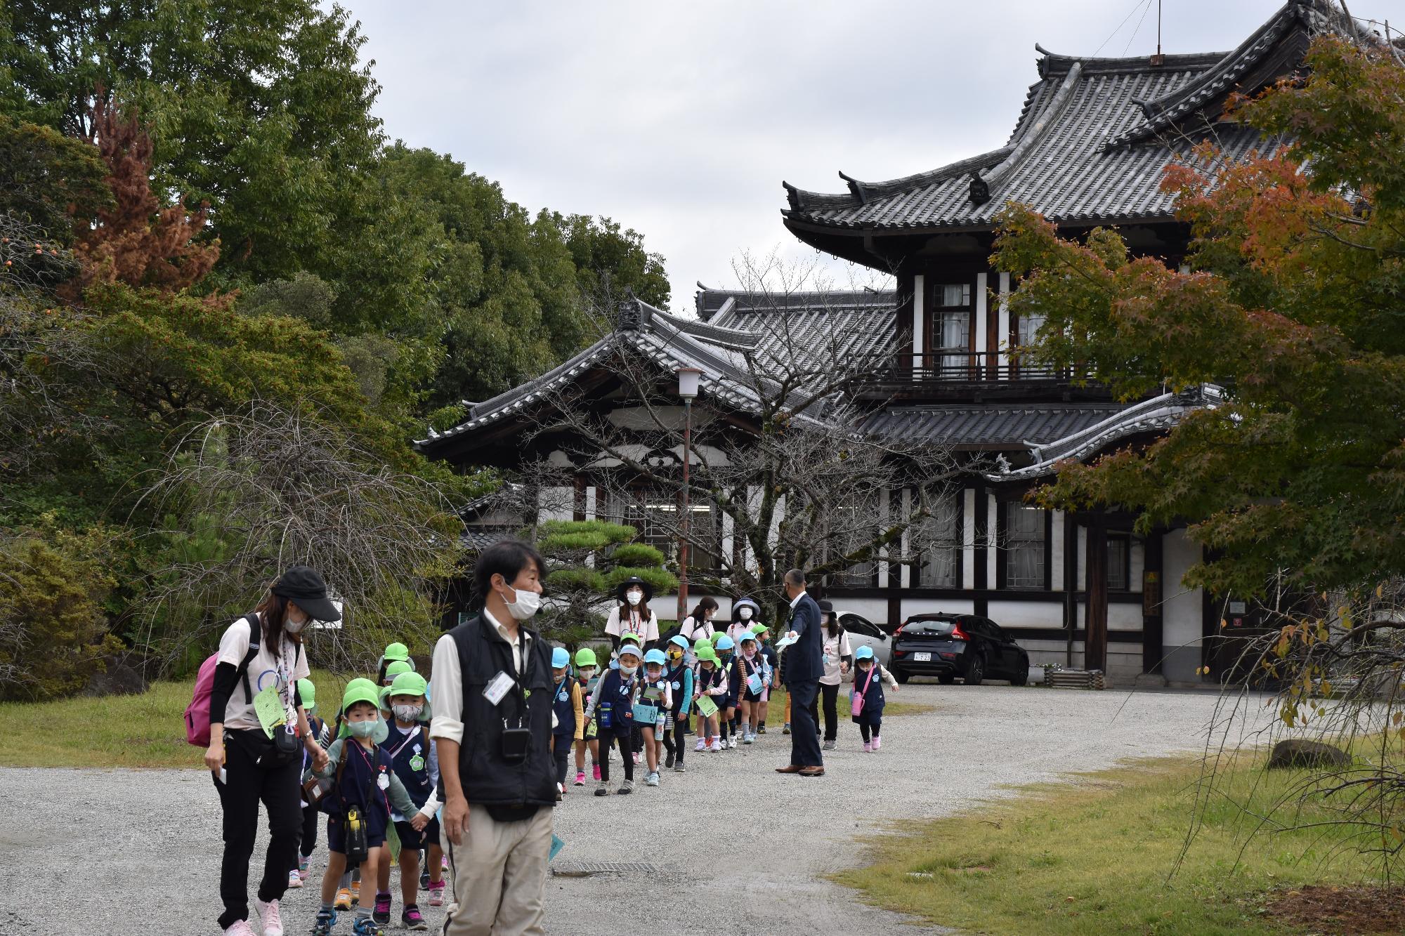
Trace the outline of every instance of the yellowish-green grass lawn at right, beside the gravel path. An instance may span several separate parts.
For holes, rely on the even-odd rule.
[[[1309,932],[1272,919],[1264,894],[1370,883],[1378,866],[1336,829],[1249,839],[1257,819],[1241,807],[1264,811],[1302,777],[1262,763],[1243,755],[1217,780],[1175,876],[1200,779],[1189,759],[1080,774],[964,815],[903,824],[875,836],[873,866],[833,880],[871,904],[974,933]],[[1314,802],[1301,810],[1302,822],[1326,815]]]

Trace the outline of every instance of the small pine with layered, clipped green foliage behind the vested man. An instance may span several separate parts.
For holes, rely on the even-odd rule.
[[[635,542],[634,527],[604,520],[548,520],[524,531],[537,534],[537,547],[551,572],[547,575],[549,602],[540,624],[548,639],[575,646],[604,631],[615,589],[638,576],[656,594],[679,587],[679,579],[665,566],[663,552]]]

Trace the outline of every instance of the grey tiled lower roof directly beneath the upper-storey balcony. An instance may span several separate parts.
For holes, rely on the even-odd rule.
[[[864,430],[906,441],[1017,448],[1064,438],[1125,409],[1118,403],[891,406],[870,416]]]

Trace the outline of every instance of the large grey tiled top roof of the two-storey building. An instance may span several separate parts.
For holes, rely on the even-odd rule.
[[[1228,53],[1078,59],[1045,52],[1014,134],[1003,148],[941,169],[863,183],[840,176],[847,194],[818,194],[787,184],[787,221],[837,229],[989,228],[1009,202],[1031,205],[1057,222],[1172,216],[1162,170],[1213,134],[1228,156],[1273,149],[1238,124],[1207,128],[1201,114],[1238,90],[1262,83],[1286,39],[1354,28],[1329,0],[1291,0]],[[1297,48],[1297,46],[1294,46]],[[1043,49],[1041,49],[1043,52]],[[1253,90],[1245,87],[1243,90]],[[1208,110],[1207,110],[1208,108]],[[988,200],[981,201],[976,190]]]

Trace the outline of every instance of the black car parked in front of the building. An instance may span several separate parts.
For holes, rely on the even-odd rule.
[[[899,683],[936,676],[944,684],[961,677],[967,686],[985,679],[1030,680],[1030,655],[988,617],[975,614],[913,614],[892,634],[888,669]]]

